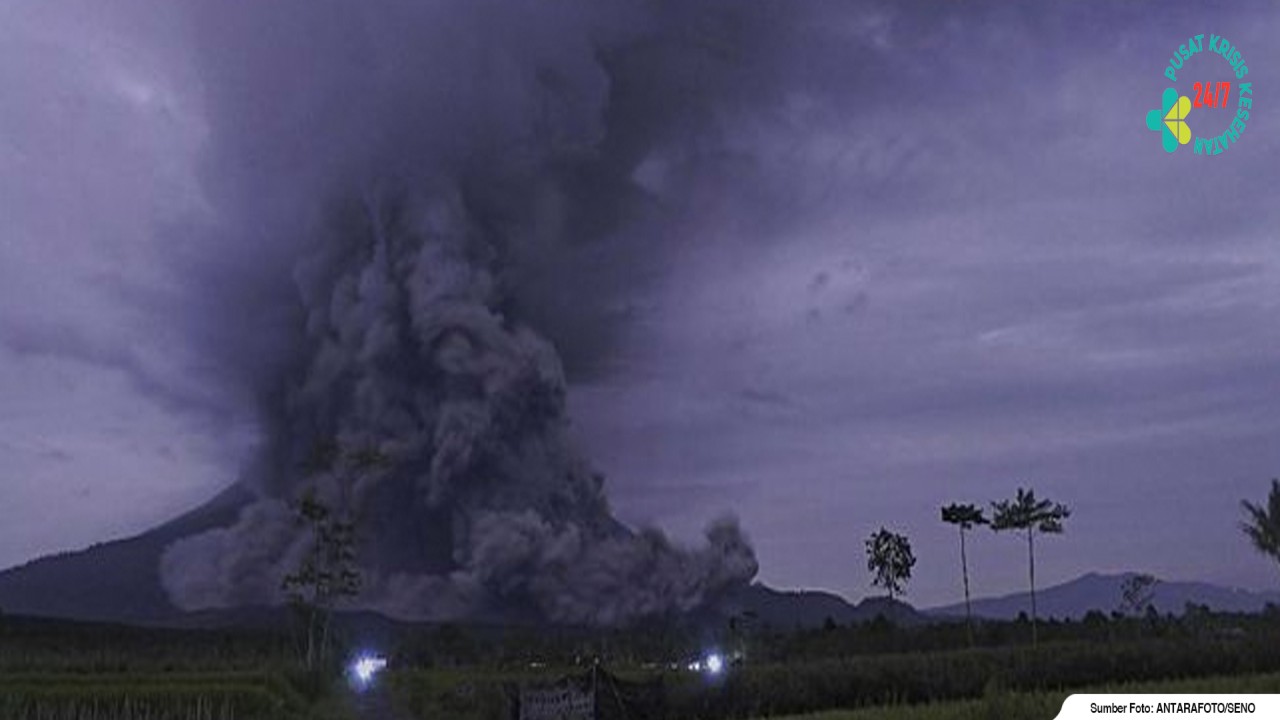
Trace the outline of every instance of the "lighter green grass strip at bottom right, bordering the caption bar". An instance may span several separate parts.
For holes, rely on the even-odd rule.
[[[1280,673],[1231,678],[1199,678],[1161,683],[1100,685],[1080,693],[1280,693]],[[771,720],[1052,720],[1066,692],[988,692],[980,700],[864,707],[812,715],[776,716]]]

